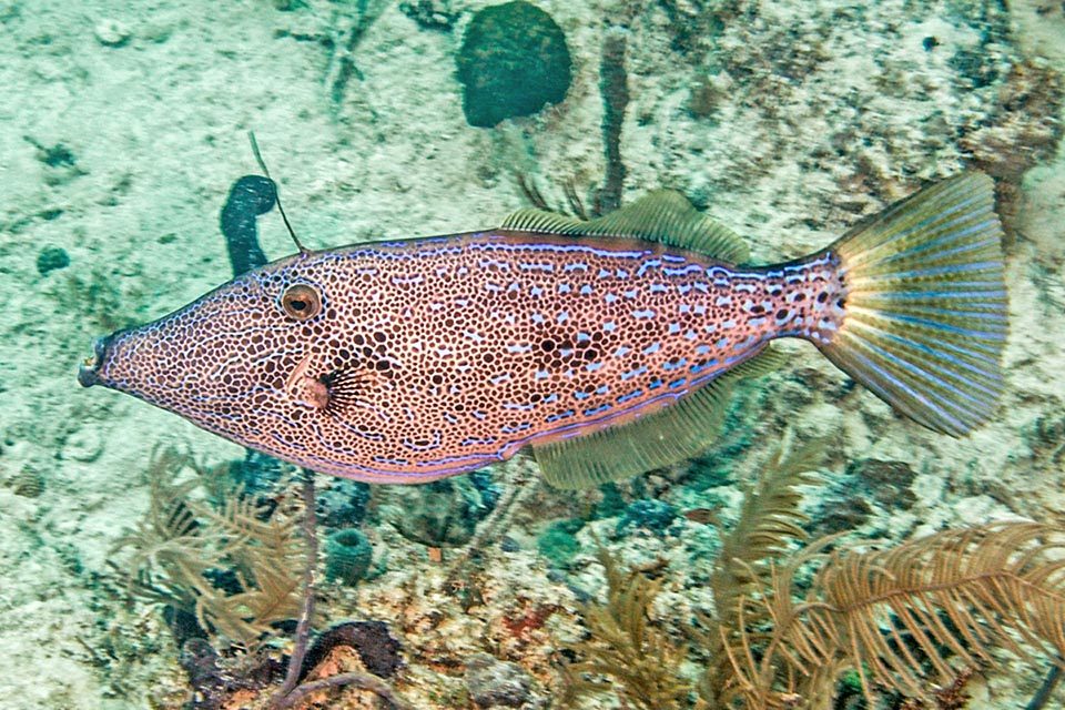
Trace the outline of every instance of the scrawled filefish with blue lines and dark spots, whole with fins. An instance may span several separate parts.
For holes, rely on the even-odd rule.
[[[591,221],[301,251],[94,343],[79,374],[244,446],[371,483],[423,483],[525,446],[578,488],[704,449],[770,342],[812,342],[951,435],[1003,389],[992,181],[925,187],[771,266],[680,194]]]

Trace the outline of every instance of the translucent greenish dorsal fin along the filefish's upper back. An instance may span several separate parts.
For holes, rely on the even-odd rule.
[[[519,210],[504,221],[504,230],[620,236],[661,242],[732,264],[746,262],[750,250],[732,230],[703,216],[673,190],[656,190],[632,204],[595,220],[577,220],[544,210]]]

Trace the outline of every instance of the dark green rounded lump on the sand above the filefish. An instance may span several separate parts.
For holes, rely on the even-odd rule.
[[[466,121],[478,128],[558,103],[572,79],[561,28],[525,0],[475,14],[456,63]]]

